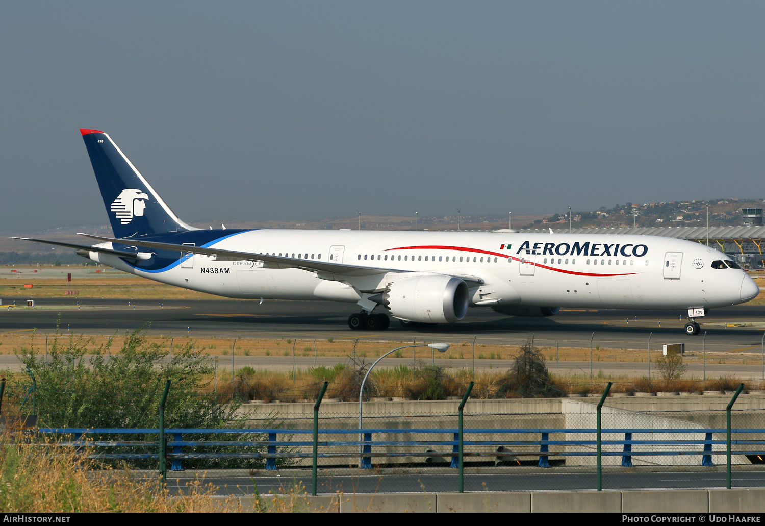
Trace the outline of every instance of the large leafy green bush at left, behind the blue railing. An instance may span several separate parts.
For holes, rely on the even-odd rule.
[[[206,375],[212,374],[213,368],[210,367],[207,354],[194,351],[192,341],[182,347],[176,346],[170,361],[165,359],[168,358],[168,351],[161,348],[161,345],[149,342],[144,330],[126,334],[119,354],[110,356],[108,351],[112,345],[111,339],[94,351],[86,348],[87,338],[71,335],[64,345],[60,339],[59,335],[53,338],[47,362],[39,356],[34,345],[17,350],[19,360],[28,368],[27,377],[34,375],[37,385],[32,399],[34,401],[27,399],[22,409],[28,412],[32,403],[35,403],[42,426],[156,428],[159,425],[158,406],[167,380],[171,381],[165,405],[164,422],[167,427],[220,428],[232,421],[236,425],[252,417],[252,412],[244,415],[236,413],[239,397],[229,396],[228,400],[223,400],[223,397],[210,392],[211,379],[207,379]],[[86,352],[92,354],[88,364],[84,360]],[[28,389],[29,383],[16,381],[8,387],[16,391],[15,397],[18,399]],[[235,388],[232,386],[230,390]],[[225,397],[226,393],[223,394]],[[156,434],[108,435],[103,436],[103,439],[154,441]],[[252,435],[226,433],[220,436],[188,434],[184,439],[256,438]],[[252,452],[260,450],[257,446],[244,449]],[[216,450],[225,451],[216,447],[204,449],[206,452]],[[132,452],[154,451],[155,448],[151,446],[135,446],[132,449]],[[188,452],[194,451],[194,447],[188,448]],[[259,468],[264,462],[262,459],[194,459],[187,463],[190,468],[200,469],[211,466]],[[156,466],[156,461],[137,459],[132,465],[151,469]]]

